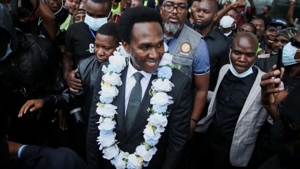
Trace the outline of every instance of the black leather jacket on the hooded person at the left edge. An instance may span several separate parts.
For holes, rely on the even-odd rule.
[[[26,100],[47,96],[53,88],[60,91],[63,86],[53,43],[17,29],[15,35],[11,39],[18,39],[17,47],[0,61],[0,100],[18,112]]]

